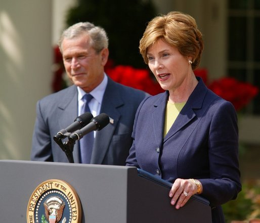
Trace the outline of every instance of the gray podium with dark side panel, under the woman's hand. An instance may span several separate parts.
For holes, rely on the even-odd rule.
[[[1,160],[0,176],[0,216],[5,223],[26,222],[33,191],[50,179],[74,188],[82,223],[211,222],[206,200],[194,195],[176,210],[168,197],[170,183],[136,167]]]

